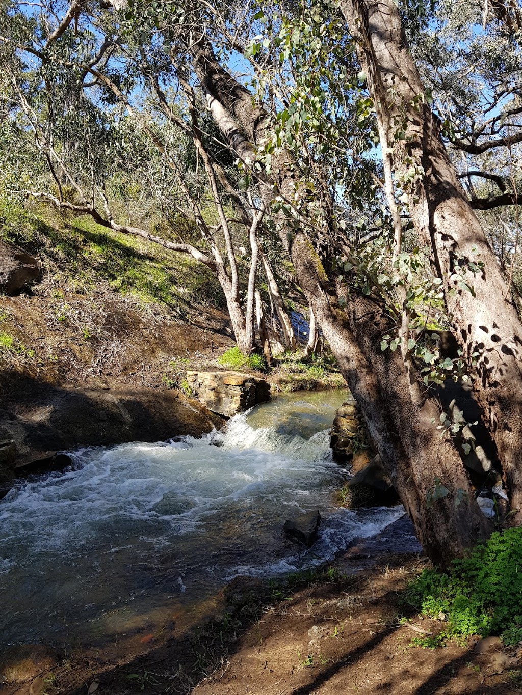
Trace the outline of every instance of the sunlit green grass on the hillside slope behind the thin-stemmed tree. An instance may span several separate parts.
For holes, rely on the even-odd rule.
[[[100,280],[122,295],[173,308],[225,306],[221,286],[204,265],[129,234],[101,227],[87,215],[64,225],[48,208],[31,214],[0,200],[0,238],[42,257],[63,290],[90,293]]]

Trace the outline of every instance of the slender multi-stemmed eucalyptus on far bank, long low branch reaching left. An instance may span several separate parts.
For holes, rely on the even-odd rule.
[[[29,16],[15,5],[3,8],[0,63],[8,113],[2,127],[11,145],[2,148],[3,183],[10,194],[85,213],[207,265],[223,288],[237,344],[249,354],[256,349],[257,235],[264,211],[230,185],[230,155],[212,120],[197,113],[191,87],[177,81],[183,101],[139,42],[118,43],[110,15],[80,18],[84,9],[74,10],[72,30],[65,26],[74,19],[70,13],[56,22],[45,6]],[[123,221],[115,207],[125,178],[138,182],[149,216],[168,223],[182,215],[189,224],[176,223],[159,236],[147,227],[147,215],[141,216],[144,226]],[[251,263],[243,302],[236,249],[245,234]]]

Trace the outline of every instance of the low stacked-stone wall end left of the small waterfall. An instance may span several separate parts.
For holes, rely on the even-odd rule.
[[[187,372],[193,395],[226,418],[270,400],[270,384],[237,372]]]

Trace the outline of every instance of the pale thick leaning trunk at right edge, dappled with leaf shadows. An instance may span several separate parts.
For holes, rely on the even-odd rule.
[[[522,523],[522,325],[509,287],[439,137],[394,0],[340,0],[421,243],[432,247],[448,313]],[[397,120],[399,119],[399,120]],[[405,133],[402,123],[406,120]],[[400,122],[401,125],[398,123]],[[406,175],[406,176],[405,176]],[[410,183],[408,177],[413,180]],[[480,264],[480,265],[479,265]]]

